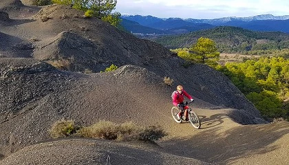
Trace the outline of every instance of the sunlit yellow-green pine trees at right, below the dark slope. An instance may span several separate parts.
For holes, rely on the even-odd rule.
[[[289,119],[289,60],[264,56],[243,63],[218,65],[217,70],[253,102],[264,118]]]

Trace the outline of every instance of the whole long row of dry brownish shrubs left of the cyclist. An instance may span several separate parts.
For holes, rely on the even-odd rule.
[[[54,122],[49,130],[52,138],[78,136],[105,140],[154,141],[167,135],[160,126],[138,126],[133,122],[114,124],[109,121],[100,121],[91,126],[80,128],[73,120],[59,120]],[[77,133],[76,133],[77,132]]]

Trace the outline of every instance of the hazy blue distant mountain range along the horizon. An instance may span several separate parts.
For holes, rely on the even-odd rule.
[[[123,27],[133,34],[183,34],[217,26],[233,26],[253,31],[289,33],[289,15],[275,17],[262,14],[253,17],[224,17],[220,19],[161,19],[153,16],[122,15]]]

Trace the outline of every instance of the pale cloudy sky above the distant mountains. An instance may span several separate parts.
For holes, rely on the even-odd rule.
[[[289,15],[289,0],[118,0],[115,11],[164,19],[283,16]]]

